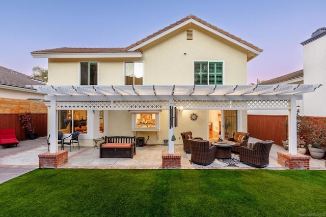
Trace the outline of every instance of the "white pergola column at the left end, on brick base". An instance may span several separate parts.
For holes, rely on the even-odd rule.
[[[50,98],[50,153],[58,152],[58,111],[56,109],[56,96]]]

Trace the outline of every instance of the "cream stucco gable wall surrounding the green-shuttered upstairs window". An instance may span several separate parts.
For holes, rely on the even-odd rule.
[[[194,84],[194,61],[224,61],[224,84],[247,83],[247,54],[244,51],[193,30],[186,40],[185,29],[171,38],[145,46],[145,84]],[[163,40],[163,39],[162,39]]]

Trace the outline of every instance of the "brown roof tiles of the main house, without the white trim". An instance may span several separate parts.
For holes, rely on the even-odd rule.
[[[214,25],[212,25],[212,24],[210,24],[210,23],[208,23],[208,22],[206,22],[206,21],[204,21],[204,20],[202,20],[202,19],[200,19],[200,18],[198,18],[198,17],[196,17],[194,15],[189,15],[189,16],[186,16],[186,17],[182,18],[181,20],[178,20],[175,23],[172,23],[169,26],[166,26],[166,27],[158,30],[157,32],[153,33],[152,35],[149,35],[146,38],[143,38],[142,40],[140,40],[140,41],[138,41],[138,42],[136,42],[136,43],[134,43],[132,45],[129,45],[129,46],[125,47],[125,48],[72,48],[72,47],[61,47],[61,48],[54,48],[54,49],[46,49],[46,50],[33,51],[33,52],[31,52],[31,54],[38,54],[38,53],[42,53],[43,54],[43,53],[137,52],[137,51],[129,51],[129,49],[131,49],[131,48],[133,48],[135,46],[138,46],[138,45],[142,44],[143,42],[146,42],[146,41],[152,39],[153,37],[155,37],[155,36],[157,36],[157,35],[159,35],[161,33],[164,33],[167,30],[173,28],[174,26],[176,26],[176,25],[178,25],[178,24],[180,24],[180,23],[182,23],[182,22],[184,22],[186,20],[189,20],[189,19],[194,19],[194,20],[202,23],[203,25],[206,25],[206,26],[212,28],[213,30],[216,30],[216,31],[218,31],[218,32],[220,32],[220,33],[222,33],[222,34],[224,34],[224,35],[226,35],[226,36],[228,36],[228,37],[230,37],[230,38],[232,38],[232,39],[234,39],[234,40],[236,40],[236,41],[244,44],[244,45],[247,45],[247,46],[249,46],[249,47],[257,50],[258,52],[262,52],[263,51],[259,47],[255,46],[255,45],[253,45],[253,44],[251,44],[251,43],[249,43],[249,42],[247,42],[247,41],[245,41],[245,40],[243,40],[241,38],[238,38],[238,37],[236,37],[236,36],[234,36],[234,35],[226,32],[226,31],[224,31],[221,28],[218,28],[218,27],[216,27],[216,26],[214,26]]]

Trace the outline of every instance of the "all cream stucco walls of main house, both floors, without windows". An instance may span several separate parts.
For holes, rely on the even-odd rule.
[[[224,84],[247,84],[247,50],[192,26],[193,40],[186,40],[188,26],[182,27],[142,47],[141,58],[50,58],[48,61],[48,85],[79,85],[80,61],[98,63],[99,85],[124,85],[124,61],[143,61],[144,84],[194,84],[194,61],[223,61]],[[189,115],[196,112],[198,120]],[[240,126],[247,130],[246,111],[239,111]],[[168,110],[160,113],[160,131],[138,132],[138,137],[148,136],[148,144],[164,144],[169,135]],[[132,136],[131,114],[128,111],[104,111],[107,114],[104,132],[107,136]],[[178,127],[175,128],[175,144],[183,144],[181,132],[192,131],[195,137],[208,139],[208,111],[181,110],[178,112]],[[95,135],[94,135],[95,136]],[[86,137],[85,137],[86,138]],[[93,141],[84,141],[93,146]]]

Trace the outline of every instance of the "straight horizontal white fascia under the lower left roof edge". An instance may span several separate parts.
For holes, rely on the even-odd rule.
[[[142,52],[105,52],[105,53],[33,53],[33,58],[135,58]]]

